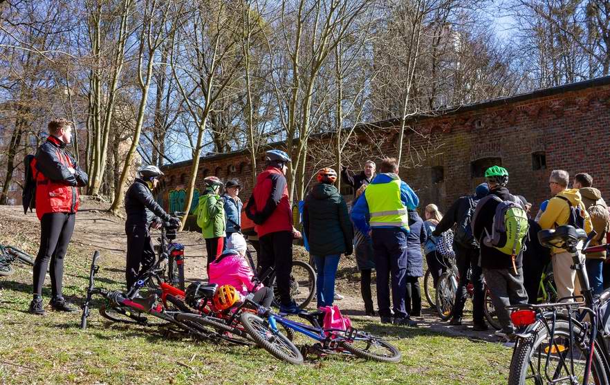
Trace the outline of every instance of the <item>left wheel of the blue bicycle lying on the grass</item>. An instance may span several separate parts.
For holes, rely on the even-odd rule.
[[[301,350],[280,332],[273,332],[266,320],[250,312],[244,312],[239,319],[250,337],[273,357],[294,365],[303,364]]]

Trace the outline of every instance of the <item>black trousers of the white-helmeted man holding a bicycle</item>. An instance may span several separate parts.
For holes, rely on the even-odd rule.
[[[127,290],[129,290],[136,283],[138,274],[154,265],[155,251],[146,227],[125,226],[125,233],[127,234],[125,281],[127,281]]]

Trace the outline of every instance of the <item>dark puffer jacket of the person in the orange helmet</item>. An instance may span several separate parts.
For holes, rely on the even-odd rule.
[[[303,231],[317,256],[351,254],[353,227],[345,200],[333,185],[315,185],[305,198]]]

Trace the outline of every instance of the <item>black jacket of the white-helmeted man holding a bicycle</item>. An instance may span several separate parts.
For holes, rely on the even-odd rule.
[[[136,178],[125,194],[125,227],[148,227],[155,216],[168,221],[170,216],[160,207],[144,180]]]

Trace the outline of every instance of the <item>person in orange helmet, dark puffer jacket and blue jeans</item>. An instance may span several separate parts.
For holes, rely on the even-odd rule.
[[[341,254],[353,252],[353,228],[345,200],[334,186],[337,173],[330,168],[317,173],[317,185],[305,198],[303,229],[317,268],[317,306],[332,306],[335,274]]]

